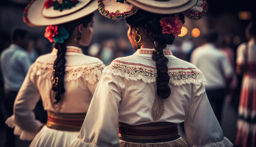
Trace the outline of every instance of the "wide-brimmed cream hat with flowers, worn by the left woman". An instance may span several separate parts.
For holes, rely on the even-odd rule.
[[[59,25],[97,9],[97,0],[32,0],[23,12],[23,21],[30,26]]]

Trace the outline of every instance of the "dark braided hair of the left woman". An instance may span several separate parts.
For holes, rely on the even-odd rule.
[[[84,25],[84,27],[87,27],[88,23],[90,21],[92,21],[92,17],[93,17],[93,14],[90,14],[87,17],[80,18],[79,20],[75,20],[75,21],[71,21],[69,23],[58,25],[58,28],[60,26],[63,26],[66,29],[66,31],[68,31],[68,34],[71,35],[74,31],[74,28],[76,28],[76,26],[82,24],[82,25]],[[57,83],[57,85],[55,85],[55,83],[53,83],[52,90],[56,92],[55,99],[57,101],[55,102],[55,104],[57,104],[61,99],[60,95],[65,92],[65,86],[64,86],[65,64],[66,64],[65,40],[64,40],[64,43],[56,42],[54,47],[58,50],[57,58],[54,61],[54,79],[58,78],[58,83]]]

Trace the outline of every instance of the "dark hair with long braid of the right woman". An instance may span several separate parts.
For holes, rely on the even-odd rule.
[[[182,13],[178,14],[182,23],[185,22],[184,15]],[[169,17],[170,15],[160,15],[156,13],[145,12],[144,10],[138,10],[137,13],[131,17],[127,17],[126,21],[133,27],[142,27],[145,29],[148,38],[152,42],[156,42],[154,47],[156,51],[153,51],[152,59],[156,62],[156,69],[158,77],[156,78],[157,93],[162,99],[167,99],[170,96],[169,87],[169,74],[167,63],[168,58],[164,56],[162,49],[166,48],[167,44],[172,44],[174,42],[173,34],[162,34],[162,26],[160,25],[160,20],[162,17]]]

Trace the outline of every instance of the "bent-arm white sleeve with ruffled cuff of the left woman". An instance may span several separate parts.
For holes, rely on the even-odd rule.
[[[42,127],[42,123],[35,119],[34,107],[40,98],[36,86],[36,75],[31,74],[33,65],[28,70],[20,91],[14,102],[14,115],[6,120],[9,127],[15,127],[14,134],[20,135],[22,140],[33,140]]]

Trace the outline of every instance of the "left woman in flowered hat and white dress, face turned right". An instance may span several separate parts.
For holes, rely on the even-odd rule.
[[[22,140],[33,140],[33,147],[70,145],[105,68],[100,59],[82,54],[79,48],[88,46],[92,39],[92,12],[97,10],[97,1],[69,2],[70,8],[60,11],[48,0],[31,1],[23,15],[29,25],[47,25],[44,36],[54,42],[52,53],[39,56],[31,65],[15,99],[14,115],[6,121]],[[44,17],[52,15],[52,11],[58,17]],[[45,125],[33,113],[40,97],[47,111]]]

